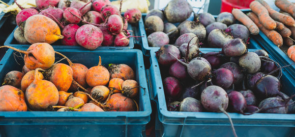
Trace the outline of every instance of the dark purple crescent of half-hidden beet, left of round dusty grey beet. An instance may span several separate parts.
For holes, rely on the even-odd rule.
[[[244,74],[242,73],[241,68],[233,62],[228,62],[220,66],[220,68],[227,68],[232,71],[234,75],[234,83],[239,84],[242,82],[244,78]]]

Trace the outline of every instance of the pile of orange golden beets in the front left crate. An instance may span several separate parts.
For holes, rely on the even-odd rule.
[[[0,111],[138,111],[140,85],[126,64],[87,68],[72,63],[47,43],[35,43],[25,54],[23,72],[10,71],[1,80]],[[67,64],[55,60],[65,58]],[[56,63],[55,63],[56,61]],[[88,90],[86,90],[88,89]]]

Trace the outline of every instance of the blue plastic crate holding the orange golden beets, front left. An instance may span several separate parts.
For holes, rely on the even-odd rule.
[[[25,49],[25,48],[23,48]],[[98,56],[103,66],[127,64],[133,68],[136,81],[147,90],[140,89],[138,112],[0,112],[0,137],[142,137],[150,120],[151,106],[143,54],[138,49],[108,49],[81,51],[56,49],[73,63],[83,63],[88,68],[98,64]],[[14,56],[9,49],[0,61],[0,82],[11,70],[20,70],[24,61]],[[16,55],[18,55],[17,53]],[[62,57],[56,55],[56,60]],[[62,63],[66,63],[64,60]],[[20,65],[19,65],[20,64]]]

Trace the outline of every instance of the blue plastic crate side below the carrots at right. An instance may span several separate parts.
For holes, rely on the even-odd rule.
[[[274,45],[273,42],[270,41],[263,32],[260,31],[259,35],[255,36],[254,39],[256,39],[257,42],[264,49],[266,49],[266,51],[269,52],[281,66],[286,66],[294,63],[294,61],[288,57],[287,52],[285,53],[278,46]],[[295,65],[287,67],[286,70],[291,74],[293,78],[295,78]]]

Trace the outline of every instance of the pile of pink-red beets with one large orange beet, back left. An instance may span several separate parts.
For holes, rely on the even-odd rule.
[[[16,16],[14,32],[19,44],[48,43],[66,46],[128,46],[128,23],[138,23],[141,12],[128,9],[123,16],[110,0],[36,0],[36,8]],[[128,22],[128,23],[127,23]],[[59,42],[60,41],[60,42]]]

